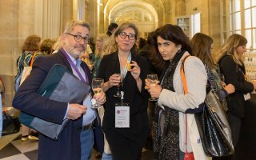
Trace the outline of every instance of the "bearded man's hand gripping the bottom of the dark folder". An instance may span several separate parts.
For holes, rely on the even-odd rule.
[[[87,107],[79,104],[70,104],[66,118],[75,120],[86,114]]]

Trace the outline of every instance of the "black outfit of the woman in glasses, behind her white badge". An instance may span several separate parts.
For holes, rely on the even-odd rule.
[[[124,102],[130,105],[130,128],[115,128],[115,106],[116,102],[120,102],[120,98],[114,98],[117,93],[117,87],[111,87],[106,90],[105,114],[103,118],[103,131],[106,139],[110,144],[110,149],[114,159],[137,159],[141,154],[143,142],[149,133],[149,124],[147,118],[147,98],[148,93],[144,89],[145,78],[147,75],[147,62],[141,56],[132,55],[132,60],[138,63],[141,68],[140,78],[142,79],[142,91],[140,92],[137,83],[128,71],[123,79]],[[107,82],[114,73],[120,73],[120,64],[118,53],[108,54],[102,58],[102,62],[98,70],[98,78],[103,78]],[[123,151],[125,150],[125,151]]]

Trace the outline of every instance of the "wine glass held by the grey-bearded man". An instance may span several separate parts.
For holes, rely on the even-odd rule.
[[[100,94],[103,90],[103,86],[104,86],[104,80],[102,78],[93,78],[91,87],[94,91],[94,94]],[[97,109],[101,107],[100,105],[98,105],[98,102],[94,98],[91,99],[91,103],[92,103],[91,108]]]

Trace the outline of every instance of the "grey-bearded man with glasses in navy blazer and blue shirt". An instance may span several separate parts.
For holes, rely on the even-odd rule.
[[[54,64],[66,66],[83,82],[91,82],[88,66],[79,59],[86,50],[89,38],[88,23],[78,20],[68,22],[61,37],[62,48],[56,54],[37,58],[30,76],[15,94],[13,106],[18,110],[58,124],[62,124],[65,118],[70,120],[58,140],[39,134],[38,159],[90,159],[94,146],[92,127],[98,122],[96,110],[90,107],[92,96],[86,96],[82,104],[72,104],[53,101],[38,94],[39,87]],[[94,95],[94,98],[100,105],[106,101],[104,92]]]

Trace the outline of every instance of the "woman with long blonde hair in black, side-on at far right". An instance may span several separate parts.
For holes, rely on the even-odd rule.
[[[241,120],[245,117],[246,100],[250,99],[250,92],[256,88],[256,82],[247,82],[246,69],[242,62],[246,52],[247,40],[240,34],[231,35],[217,54],[220,72],[225,77],[226,84],[231,83],[234,94],[228,98],[228,121],[232,131],[234,149],[237,146],[241,130]],[[235,156],[236,150],[234,150]]]

